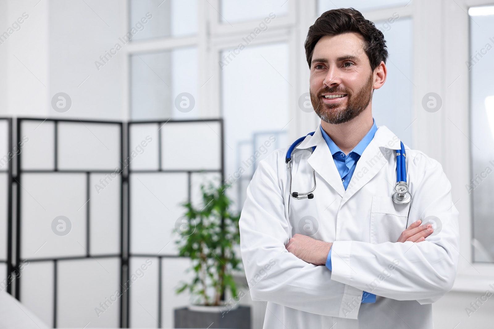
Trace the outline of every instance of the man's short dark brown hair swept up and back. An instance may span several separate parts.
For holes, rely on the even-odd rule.
[[[309,68],[311,67],[314,47],[320,38],[349,32],[355,32],[364,37],[364,50],[369,57],[372,71],[381,61],[386,63],[388,51],[382,32],[374,26],[374,23],[365,19],[360,11],[354,8],[340,8],[323,13],[309,28],[305,39],[305,56]]]

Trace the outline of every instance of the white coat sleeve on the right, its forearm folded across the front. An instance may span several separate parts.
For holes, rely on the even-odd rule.
[[[419,243],[335,241],[331,279],[379,296],[426,304],[453,287],[459,256],[458,212],[441,165],[420,153],[412,161],[417,163],[411,165],[423,168],[417,170],[422,174],[413,186],[409,222],[421,219],[425,224],[433,219],[433,234]]]

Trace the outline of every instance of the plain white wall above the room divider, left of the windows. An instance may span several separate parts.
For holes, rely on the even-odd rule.
[[[24,12],[0,44],[0,115],[125,119],[125,49],[94,64],[126,32],[125,1],[2,0],[0,33]],[[51,106],[58,92],[72,99],[63,113]]]

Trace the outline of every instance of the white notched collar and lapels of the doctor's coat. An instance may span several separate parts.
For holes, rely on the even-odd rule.
[[[334,164],[329,147],[322,136],[320,126],[313,136],[308,135],[296,148],[305,149],[313,146],[317,147],[309,156],[308,163],[343,198],[341,203],[343,204],[377,175],[386,164],[386,157],[380,147],[399,149],[400,139],[386,126],[379,126],[371,143],[366,147],[357,162],[355,172],[346,190],[341,182],[341,177]]]

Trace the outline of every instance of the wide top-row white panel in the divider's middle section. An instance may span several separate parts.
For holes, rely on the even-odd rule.
[[[119,124],[59,122],[58,169],[115,170],[120,139]]]

